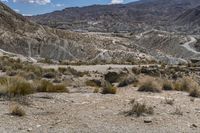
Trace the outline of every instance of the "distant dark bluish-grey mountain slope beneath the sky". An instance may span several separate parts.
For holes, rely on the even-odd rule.
[[[169,26],[179,15],[196,5],[200,5],[199,0],[141,0],[129,4],[66,8],[28,18],[59,29],[139,32]]]

